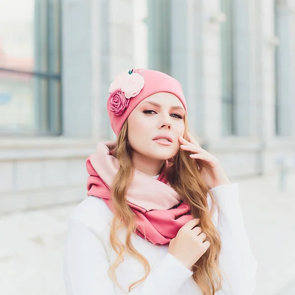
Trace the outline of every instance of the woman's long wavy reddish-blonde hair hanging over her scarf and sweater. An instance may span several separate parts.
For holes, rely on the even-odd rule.
[[[184,124],[186,131],[188,130],[186,117],[184,117]],[[150,266],[148,260],[131,243],[131,236],[136,233],[137,229],[137,216],[126,201],[127,188],[132,181],[134,172],[132,149],[128,143],[127,120],[118,134],[116,146],[109,146],[109,149],[118,159],[120,168],[111,187],[114,218],[111,223],[110,242],[118,257],[110,266],[108,275],[124,292],[116,278],[116,269],[123,262],[124,252],[126,251],[131,257],[140,261],[145,268],[145,276],[129,285],[128,292],[130,292],[144,282],[150,272]],[[189,157],[189,154],[189,152],[180,149],[173,159],[169,159],[170,165],[166,168],[165,177],[178,193],[180,199],[190,205],[192,216],[200,218],[199,226],[202,228],[202,232],[206,234],[206,240],[210,242],[210,247],[191,269],[193,271],[192,277],[201,288],[203,295],[214,295],[222,287],[221,271],[218,268],[221,239],[211,219],[216,203],[201,177],[202,164],[197,161],[197,165],[196,161]],[[210,209],[207,204],[207,195],[211,199]],[[125,245],[117,236],[117,230],[120,227],[127,228]]]

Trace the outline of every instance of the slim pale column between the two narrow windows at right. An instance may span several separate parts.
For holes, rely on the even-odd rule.
[[[238,136],[257,135],[256,1],[232,1],[234,125]]]

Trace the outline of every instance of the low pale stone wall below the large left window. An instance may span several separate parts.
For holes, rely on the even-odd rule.
[[[85,160],[94,148],[77,140],[1,142],[0,213],[85,198]]]

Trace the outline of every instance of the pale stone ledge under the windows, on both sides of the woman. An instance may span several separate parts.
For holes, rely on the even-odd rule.
[[[0,161],[85,158],[103,139],[77,139],[66,137],[0,138]],[[266,143],[260,137],[222,137],[215,142],[197,138],[201,146],[211,152],[249,153],[286,152],[295,150],[295,139],[275,137]]]

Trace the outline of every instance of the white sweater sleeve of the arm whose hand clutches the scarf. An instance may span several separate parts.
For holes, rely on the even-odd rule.
[[[64,253],[64,282],[67,295],[115,295],[108,277],[109,261],[104,244],[81,221],[70,219]],[[175,294],[193,273],[167,253],[146,280],[130,295]]]

